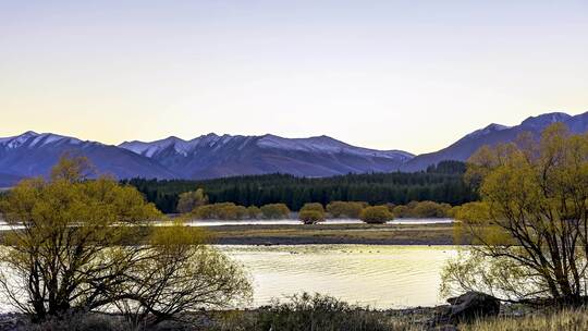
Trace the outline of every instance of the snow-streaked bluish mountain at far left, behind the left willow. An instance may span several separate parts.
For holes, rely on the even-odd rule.
[[[47,175],[60,156],[66,152],[86,156],[98,172],[117,177],[175,177],[175,174],[159,163],[117,146],[29,131],[19,136],[0,138],[0,183],[10,182],[7,179]]]

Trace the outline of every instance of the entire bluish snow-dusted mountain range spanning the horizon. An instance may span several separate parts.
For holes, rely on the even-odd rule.
[[[244,174],[290,173],[331,176],[346,173],[420,171],[443,160],[464,161],[483,145],[512,142],[522,132],[540,134],[554,122],[574,133],[588,131],[588,112],[553,112],[531,117],[519,125],[490,124],[451,146],[414,156],[402,150],[356,147],[328,136],[284,138],[275,135],[208,134],[192,140],[174,136],[156,142],[124,142],[119,146],[85,142],[51,133],[26,132],[0,138],[0,187],[24,177],[47,175],[65,152],[90,159],[99,173],[119,179],[213,179]]]

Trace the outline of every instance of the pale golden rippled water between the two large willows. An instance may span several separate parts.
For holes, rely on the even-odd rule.
[[[375,308],[440,304],[440,270],[452,246],[218,246],[253,277],[254,306],[301,292]]]

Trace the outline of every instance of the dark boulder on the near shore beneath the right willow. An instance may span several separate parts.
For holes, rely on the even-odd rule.
[[[448,299],[451,304],[441,317],[450,322],[468,321],[478,317],[498,316],[500,301],[481,292],[467,292]]]

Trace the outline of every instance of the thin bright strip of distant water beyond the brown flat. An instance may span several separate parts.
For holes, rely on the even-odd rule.
[[[396,219],[387,224],[441,224],[452,223],[452,219]],[[331,219],[320,222],[320,224],[362,224],[356,219]],[[296,225],[302,224],[298,220],[198,220],[187,222],[189,226],[215,226],[215,225]]]

